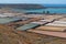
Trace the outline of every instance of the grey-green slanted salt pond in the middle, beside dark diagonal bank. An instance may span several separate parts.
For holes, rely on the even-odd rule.
[[[24,24],[24,25],[18,28],[16,30],[19,30],[19,31],[26,31],[26,30],[30,30],[30,29],[34,29],[34,28],[36,28],[38,25],[40,24],[29,23],[29,24]]]

